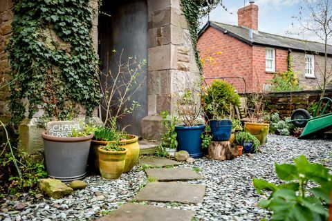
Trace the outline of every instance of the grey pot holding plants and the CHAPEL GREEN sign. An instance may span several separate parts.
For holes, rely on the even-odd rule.
[[[49,122],[48,125],[53,128],[42,133],[48,176],[64,182],[82,180],[86,175],[94,126],[68,121]],[[60,132],[60,127],[72,130]]]

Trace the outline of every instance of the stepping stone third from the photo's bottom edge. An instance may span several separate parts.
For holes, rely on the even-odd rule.
[[[154,177],[158,181],[181,181],[181,180],[199,180],[201,175],[187,168],[160,168],[145,170],[148,177]]]

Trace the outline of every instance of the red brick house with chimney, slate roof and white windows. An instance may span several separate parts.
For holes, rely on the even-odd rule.
[[[322,81],[324,44],[260,32],[258,10],[250,1],[237,12],[238,26],[208,21],[199,32],[200,55],[213,57],[215,64],[208,62],[203,66],[205,81],[224,77],[240,93],[261,91],[268,88],[266,85],[275,74],[287,70],[289,54],[299,85],[305,89],[317,88],[317,81]],[[328,53],[329,70],[332,46],[328,46]]]

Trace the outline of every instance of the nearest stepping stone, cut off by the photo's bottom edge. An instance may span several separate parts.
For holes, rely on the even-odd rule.
[[[98,221],[190,221],[196,211],[167,209],[142,204],[125,204]]]

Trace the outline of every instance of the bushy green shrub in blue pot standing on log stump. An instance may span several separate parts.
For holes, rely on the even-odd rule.
[[[213,141],[230,140],[232,106],[239,105],[239,95],[223,80],[214,80],[203,93],[203,108],[208,117]]]

